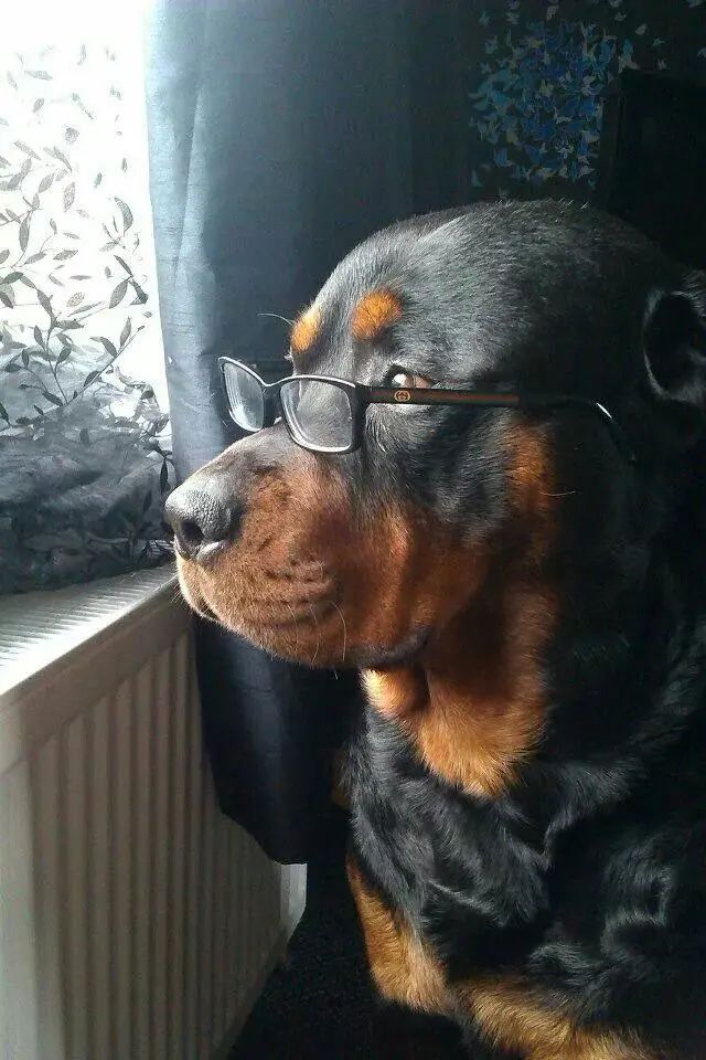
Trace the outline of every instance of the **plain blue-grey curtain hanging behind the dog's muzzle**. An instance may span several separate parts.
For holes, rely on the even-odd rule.
[[[410,7],[161,2],[147,56],[150,183],[176,471],[236,438],[216,358],[285,374],[282,322],[356,242],[413,211]],[[223,809],[278,861],[307,860],[324,750],[356,679],[197,636]]]

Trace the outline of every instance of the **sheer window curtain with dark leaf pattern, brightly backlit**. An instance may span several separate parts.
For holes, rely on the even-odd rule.
[[[82,40],[50,17],[23,34],[19,19],[0,42],[0,593],[168,554],[169,416],[127,29],[87,19]]]

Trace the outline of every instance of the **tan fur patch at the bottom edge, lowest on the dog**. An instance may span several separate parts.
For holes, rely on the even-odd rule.
[[[459,997],[493,1045],[526,1060],[651,1060],[637,1037],[579,1028],[511,981],[470,983]]]

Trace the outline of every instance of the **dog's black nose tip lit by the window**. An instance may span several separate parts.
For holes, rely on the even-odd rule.
[[[164,519],[174,531],[176,552],[188,560],[206,559],[235,529],[234,510],[225,497],[190,481],[170,494]]]

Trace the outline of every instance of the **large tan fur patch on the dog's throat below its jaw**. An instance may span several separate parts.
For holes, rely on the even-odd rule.
[[[556,602],[541,586],[488,594],[411,662],[367,670],[374,709],[394,719],[436,774],[496,796],[542,735],[542,659]]]

